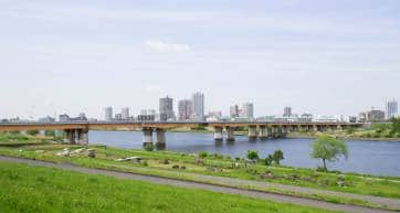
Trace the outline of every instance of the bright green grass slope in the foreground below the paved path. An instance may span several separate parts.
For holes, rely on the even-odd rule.
[[[329,212],[202,190],[0,162],[0,212]]]

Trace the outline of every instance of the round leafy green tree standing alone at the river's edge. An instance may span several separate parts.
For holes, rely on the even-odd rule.
[[[334,162],[339,157],[347,159],[347,146],[344,141],[337,140],[330,136],[322,135],[312,143],[313,151],[310,156],[313,158],[319,158],[323,160],[324,170],[326,171],[326,160]]]

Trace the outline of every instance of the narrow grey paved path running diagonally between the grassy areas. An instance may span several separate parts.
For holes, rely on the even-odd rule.
[[[0,161],[19,162],[19,163],[25,163],[29,166],[40,166],[40,167],[48,167],[48,168],[55,168],[55,169],[64,169],[64,170],[77,171],[81,173],[88,173],[88,174],[103,174],[103,175],[107,175],[107,177],[128,179],[128,180],[139,180],[139,181],[157,183],[157,184],[167,184],[167,185],[183,187],[183,188],[191,188],[191,189],[202,189],[202,190],[209,190],[209,191],[229,193],[229,194],[240,194],[243,196],[266,199],[266,200],[281,202],[281,203],[282,202],[283,203],[293,203],[293,204],[307,205],[307,206],[314,206],[314,207],[320,207],[320,209],[327,209],[327,210],[334,210],[334,211],[354,212],[354,213],[388,213],[388,212],[390,212],[390,211],[375,210],[375,209],[356,206],[356,205],[335,204],[335,203],[328,203],[328,202],[324,202],[324,201],[317,201],[317,200],[304,199],[304,198],[297,198],[297,196],[291,196],[291,195],[283,195],[283,194],[275,194],[275,193],[267,193],[267,192],[256,192],[256,191],[251,191],[251,190],[243,190],[243,189],[235,189],[235,188],[228,188],[228,187],[218,187],[218,185],[213,185],[213,184],[197,183],[197,182],[183,181],[183,180],[173,180],[173,179],[161,178],[161,177],[134,174],[134,173],[110,171],[110,170],[103,170],[103,169],[91,169],[91,168],[73,166],[70,163],[53,163],[53,162],[20,159],[20,158],[3,157],[3,156],[0,156]]]

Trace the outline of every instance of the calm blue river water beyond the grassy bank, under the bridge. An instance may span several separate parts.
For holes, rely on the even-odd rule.
[[[91,143],[102,143],[116,148],[141,149],[143,134],[139,131],[90,131]],[[248,150],[257,150],[264,158],[276,149],[284,152],[282,164],[316,168],[319,160],[309,157],[312,139],[274,139],[249,141],[245,136],[236,136],[234,142],[214,142],[212,134],[167,132],[167,150],[178,152],[221,153],[245,157]],[[400,177],[400,142],[393,141],[346,141],[349,157],[337,162],[328,162],[328,169],[373,175]]]

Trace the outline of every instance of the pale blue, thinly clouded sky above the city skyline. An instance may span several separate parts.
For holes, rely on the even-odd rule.
[[[103,117],[206,95],[206,113],[357,115],[400,98],[398,0],[0,0],[0,118]]]

